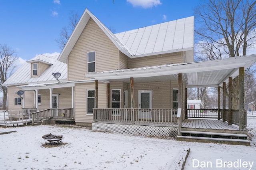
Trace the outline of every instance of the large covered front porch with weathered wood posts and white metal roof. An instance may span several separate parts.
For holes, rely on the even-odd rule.
[[[102,73],[87,73],[86,77],[95,79],[95,105],[94,105],[94,124],[118,124],[118,125],[135,125],[140,123],[143,126],[155,126],[155,127],[177,127],[176,134],[180,136],[182,133],[182,126],[190,118],[196,119],[216,119],[216,122],[222,122],[225,124],[223,127],[227,127],[229,130],[234,124],[238,125],[238,131],[243,131],[246,127],[246,111],[244,109],[244,84],[240,83],[240,100],[239,109],[226,109],[221,108],[220,100],[218,100],[218,109],[200,109],[204,110],[200,112],[200,116],[191,116],[196,110],[191,112],[187,109],[187,88],[190,87],[218,87],[218,99],[220,98],[220,87],[226,87],[233,78],[239,77],[240,82],[244,82],[244,69],[247,69],[256,62],[256,55],[248,55],[243,57],[233,57],[228,59],[214,60],[214,61],[202,61],[195,63],[184,63],[184,64],[170,64],[170,65],[158,65],[152,67],[142,67],[136,69],[124,69],[117,71],[104,71]],[[97,89],[98,81],[102,81],[108,84],[115,83],[116,81],[123,81],[129,84],[130,88],[130,102],[131,108],[123,108],[115,111],[114,108],[104,108],[100,110],[97,107]],[[168,112],[168,109],[163,109],[168,114],[158,113],[155,108],[149,110],[146,108],[145,112],[137,110],[134,101],[134,88],[135,83],[144,82],[161,82],[161,81],[176,81],[178,83],[178,103],[177,108],[180,108],[180,114],[175,115],[175,111]],[[231,87],[231,86],[230,86]],[[169,90],[171,90],[170,88]],[[154,92],[153,92],[154,93]],[[166,93],[167,95],[167,93]],[[163,97],[166,97],[163,95]],[[224,93],[223,96],[226,96]],[[226,101],[223,100],[222,106],[225,106]],[[230,102],[231,103],[231,102]],[[173,105],[174,106],[174,105]],[[134,109],[134,111],[132,110]],[[174,108],[170,108],[174,109]],[[176,108],[175,108],[176,109]],[[105,112],[104,112],[105,111]],[[206,111],[206,112],[205,112]],[[118,113],[118,114],[116,114]],[[125,114],[130,115],[128,117]],[[152,114],[153,113],[153,114]],[[171,113],[171,114],[170,114]],[[174,114],[173,114],[174,113]],[[145,115],[146,114],[146,115]],[[208,115],[206,117],[202,116]],[[100,116],[99,116],[100,115]],[[144,117],[144,118],[143,118]],[[172,121],[170,121],[172,117]],[[156,119],[157,118],[157,119]],[[180,122],[178,121],[180,119]],[[177,121],[176,121],[177,120]],[[193,120],[194,122],[194,120]],[[196,121],[195,121],[196,122]],[[199,121],[198,121],[199,122]],[[204,120],[207,122],[207,120]],[[228,124],[226,126],[226,123]],[[210,125],[209,125],[210,126]],[[127,128],[127,127],[126,127]],[[106,127],[106,129],[108,129]],[[105,130],[106,130],[105,129]],[[206,128],[204,132],[210,131],[209,129],[216,129],[216,125],[212,125],[211,128]],[[170,131],[170,130],[169,130]],[[170,133],[169,133],[170,134]],[[217,135],[218,136],[218,135]],[[222,135],[221,135],[222,136]],[[222,140],[222,139],[221,139]]]

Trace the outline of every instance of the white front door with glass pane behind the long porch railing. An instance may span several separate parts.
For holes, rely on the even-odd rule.
[[[139,113],[140,119],[151,119],[152,112],[148,109],[152,109],[152,90],[139,90],[139,109],[142,111]]]

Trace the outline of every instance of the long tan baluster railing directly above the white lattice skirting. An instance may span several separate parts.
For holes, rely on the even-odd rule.
[[[178,109],[93,109],[95,122],[177,123]]]

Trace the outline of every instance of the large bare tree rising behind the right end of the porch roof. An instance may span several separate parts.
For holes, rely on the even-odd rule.
[[[246,55],[256,41],[255,0],[204,0],[195,8],[196,56],[199,60]],[[233,83],[233,107],[238,105],[238,79]]]

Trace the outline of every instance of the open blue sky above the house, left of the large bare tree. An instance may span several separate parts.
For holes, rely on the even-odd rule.
[[[1,0],[0,43],[24,60],[61,52],[56,43],[70,11],[88,8],[115,33],[193,16],[200,0]]]

